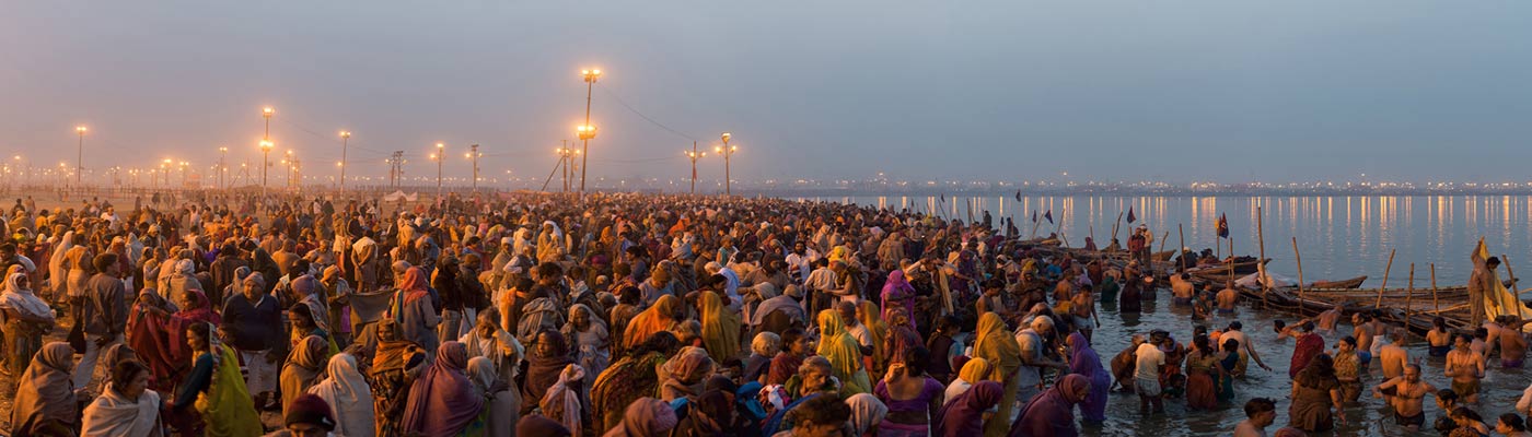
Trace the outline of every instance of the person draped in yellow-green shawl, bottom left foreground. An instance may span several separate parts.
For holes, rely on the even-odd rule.
[[[187,342],[198,356],[170,403],[169,417],[178,419],[178,429],[188,435],[260,435],[260,416],[239,374],[234,348],[219,342],[210,324],[187,329]]]

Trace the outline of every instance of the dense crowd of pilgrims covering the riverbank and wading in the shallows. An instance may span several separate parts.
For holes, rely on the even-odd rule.
[[[1100,303],[1138,312],[1164,278],[1200,315],[1235,306],[1147,267],[1147,229],[1068,251],[988,212],[653,194],[8,214],[12,435],[1077,435],[1114,390],[1146,416],[1227,408],[1249,361],[1268,368],[1238,321],[1103,361]],[[1439,391],[1373,315],[1327,350],[1340,316],[1278,329],[1296,350],[1276,435],[1345,420],[1374,358],[1400,423],[1431,394],[1451,435],[1526,435],[1468,406],[1492,351],[1520,365],[1520,321],[1428,336]],[[1244,411],[1230,431],[1267,435],[1276,403]]]

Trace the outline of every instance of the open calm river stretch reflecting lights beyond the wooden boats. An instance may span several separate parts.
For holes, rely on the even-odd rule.
[[[1532,197],[1526,196],[1353,196],[1353,197],[1154,197],[1154,196],[1034,196],[971,197],[974,218],[988,209],[996,226],[1000,217],[1011,217],[1026,237],[1031,214],[1037,211],[1037,235],[1048,235],[1057,225],[1043,218],[1052,211],[1054,223],[1069,246],[1085,246],[1094,228],[1095,241],[1111,243],[1112,223],[1129,206],[1137,215],[1134,225],[1123,217],[1118,240],[1126,246],[1131,226],[1147,225],[1157,241],[1154,251],[1174,251],[1180,243],[1177,226],[1184,231],[1186,246],[1195,251],[1223,244],[1218,241],[1219,214],[1229,217],[1229,234],[1235,252],[1256,255],[1258,208],[1264,209],[1265,257],[1273,274],[1298,278],[1293,237],[1304,257],[1304,280],[1344,280],[1367,275],[1367,287],[1382,284],[1388,252],[1396,251],[1388,287],[1405,287],[1409,263],[1416,263],[1416,287],[1431,286],[1429,263],[1435,263],[1437,284],[1462,286],[1471,270],[1468,254],[1478,237],[1485,237],[1489,252],[1509,255],[1512,269],[1532,275]],[[945,217],[967,218],[968,197],[806,197],[806,200],[853,202],[887,208],[935,211],[942,205]],[[1169,232],[1169,238],[1158,241]],[[1161,249],[1161,244],[1164,249]],[[1501,272],[1504,274],[1504,272]]]

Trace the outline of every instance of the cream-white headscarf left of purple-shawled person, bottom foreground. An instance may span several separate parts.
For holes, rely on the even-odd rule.
[[[336,416],[339,435],[371,437],[377,432],[374,426],[372,390],[368,380],[357,371],[357,359],[349,353],[337,353],[329,358],[325,367],[329,377],[308,390],[325,399]]]

